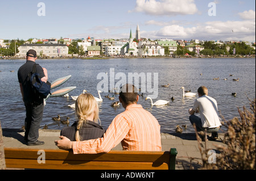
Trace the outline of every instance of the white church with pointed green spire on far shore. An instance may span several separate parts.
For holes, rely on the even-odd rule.
[[[133,35],[130,31],[129,42],[121,48],[121,55],[123,56],[138,56],[138,45],[133,41]]]

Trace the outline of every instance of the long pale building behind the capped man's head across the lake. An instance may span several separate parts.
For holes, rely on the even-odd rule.
[[[19,56],[24,57],[27,51],[34,49],[39,56],[60,57],[68,56],[68,46],[64,44],[23,44],[20,45]]]

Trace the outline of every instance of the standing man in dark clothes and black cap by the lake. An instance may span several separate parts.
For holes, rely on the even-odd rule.
[[[20,66],[18,70],[20,92],[22,93],[22,99],[26,107],[24,140],[27,141],[28,146],[44,144],[43,141],[38,140],[39,126],[43,119],[44,99],[40,97],[40,95],[34,93],[30,78],[28,77],[32,72],[34,64],[36,64],[36,58],[36,51],[32,49],[28,50],[26,57],[27,61]],[[47,82],[47,69],[42,68],[37,64],[36,73],[40,74],[40,78],[43,82]]]

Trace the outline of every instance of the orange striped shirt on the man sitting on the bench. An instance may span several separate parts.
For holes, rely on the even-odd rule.
[[[139,104],[117,115],[102,138],[72,142],[74,154],[107,153],[121,142],[123,150],[161,151],[158,120]]]

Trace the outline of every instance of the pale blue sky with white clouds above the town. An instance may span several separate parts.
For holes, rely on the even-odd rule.
[[[0,39],[255,42],[255,0],[0,0]]]

